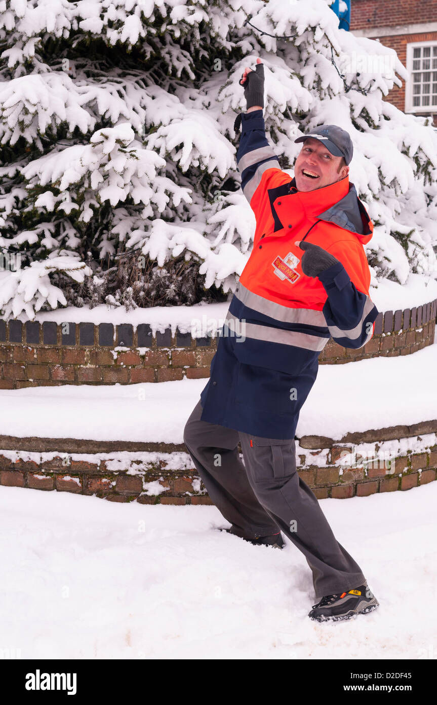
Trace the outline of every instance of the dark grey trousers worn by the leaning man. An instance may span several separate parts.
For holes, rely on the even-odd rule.
[[[315,494],[296,470],[296,443],[267,439],[201,421],[199,400],[184,443],[211,501],[247,538],[284,532],[302,551],[315,599],[362,585],[365,576],[338,543]],[[243,462],[238,450],[241,443]]]

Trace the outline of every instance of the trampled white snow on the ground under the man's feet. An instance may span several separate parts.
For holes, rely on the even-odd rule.
[[[426,658],[436,625],[417,595],[437,581],[436,502],[437,482],[319,501],[380,606],[318,624],[285,536],[278,551],[218,532],[229,523],[213,506],[0,486],[2,646],[28,659]]]

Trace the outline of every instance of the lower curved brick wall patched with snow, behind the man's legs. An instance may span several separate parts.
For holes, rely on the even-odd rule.
[[[212,504],[184,444],[0,436],[0,448],[1,485],[114,502]],[[348,464],[344,453],[353,454]],[[296,466],[318,499],[421,486],[436,479],[437,420],[348,433],[341,441],[302,436]]]

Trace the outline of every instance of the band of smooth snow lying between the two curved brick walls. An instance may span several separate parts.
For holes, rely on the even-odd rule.
[[[437,336],[412,355],[319,365],[296,435],[339,440],[348,431],[436,419],[436,351]],[[1,389],[8,413],[0,418],[0,435],[108,441],[115,434],[118,441],[183,443],[184,424],[207,381]],[[335,414],[327,412],[333,399]]]

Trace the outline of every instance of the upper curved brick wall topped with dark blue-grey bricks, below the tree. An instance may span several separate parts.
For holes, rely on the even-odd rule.
[[[374,336],[359,350],[332,341],[320,364],[378,355],[409,355],[434,341],[437,299],[405,311],[380,313]],[[208,377],[216,338],[171,329],[152,336],[148,324],[0,320],[0,388],[58,384],[135,384]],[[127,348],[114,350],[114,348]]]

